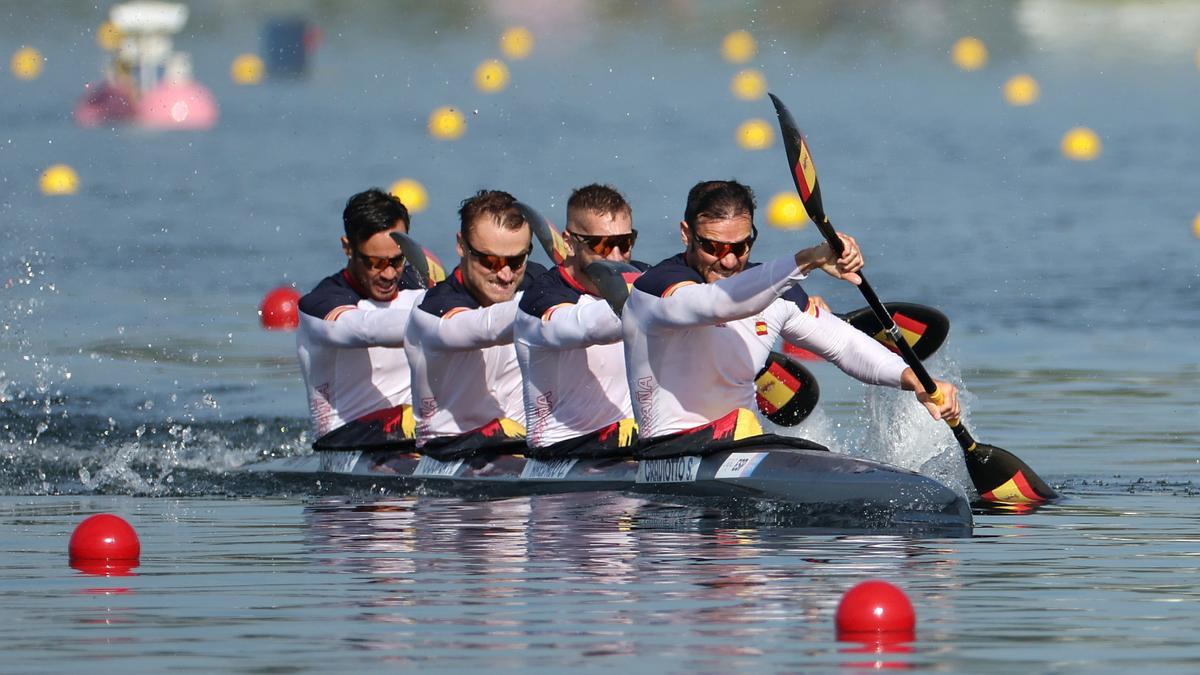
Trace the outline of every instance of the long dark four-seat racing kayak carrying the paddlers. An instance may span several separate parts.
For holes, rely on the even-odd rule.
[[[368,480],[394,491],[467,498],[599,491],[715,508],[752,504],[803,527],[919,530],[952,536],[970,534],[972,527],[966,498],[931,478],[877,461],[770,442],[707,456],[641,461],[521,455],[440,461],[386,449],[319,450],[246,470],[278,477]]]

